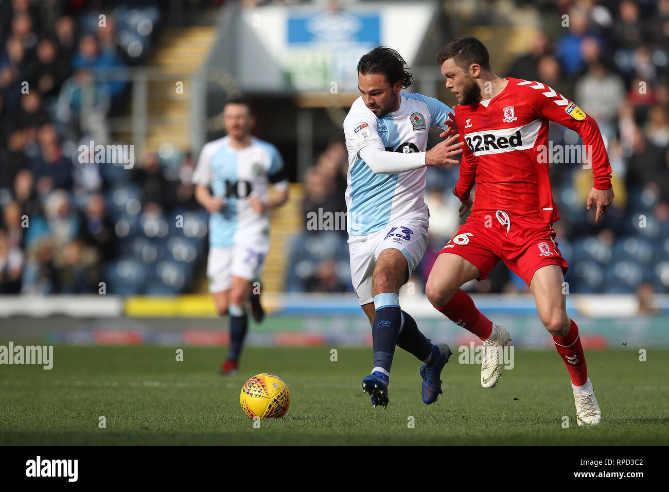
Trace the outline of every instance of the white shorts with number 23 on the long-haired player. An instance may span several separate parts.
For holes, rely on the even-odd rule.
[[[376,260],[387,248],[395,248],[404,254],[409,266],[409,276],[418,266],[427,248],[427,218],[417,217],[398,220],[385,229],[367,236],[349,235],[349,255],[351,256],[351,280],[353,289],[361,305],[371,303],[372,274]]]

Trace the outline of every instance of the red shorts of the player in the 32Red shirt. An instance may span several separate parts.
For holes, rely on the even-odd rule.
[[[499,260],[527,286],[542,266],[559,265],[563,274],[569,268],[551,224],[502,210],[470,215],[441,252],[457,254],[478,267],[478,280],[486,278]]]

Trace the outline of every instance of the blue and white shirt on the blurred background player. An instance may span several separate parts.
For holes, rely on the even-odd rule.
[[[211,187],[211,195],[222,197],[225,204],[209,216],[209,246],[227,248],[269,236],[268,211],[256,214],[249,203],[254,195],[267,201],[269,184],[275,189],[288,188],[284,163],[271,143],[251,137],[245,149],[233,149],[230,137],[206,143],[202,147],[193,183]]]

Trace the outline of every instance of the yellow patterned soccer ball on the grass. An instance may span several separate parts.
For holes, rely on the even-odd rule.
[[[280,418],[288,412],[290,392],[281,378],[264,372],[244,383],[240,404],[250,418]]]

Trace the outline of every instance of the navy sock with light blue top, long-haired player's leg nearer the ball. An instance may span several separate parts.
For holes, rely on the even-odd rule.
[[[374,297],[376,315],[372,326],[374,347],[374,368],[372,372],[380,372],[390,376],[393,364],[397,335],[401,325],[399,297],[393,293],[377,294]]]

